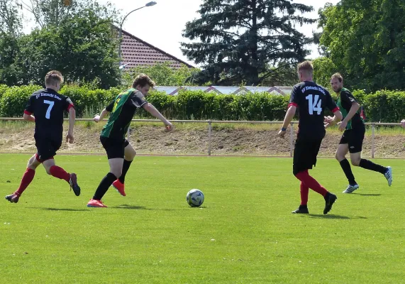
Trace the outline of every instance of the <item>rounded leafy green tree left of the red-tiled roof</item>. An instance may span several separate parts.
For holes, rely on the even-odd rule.
[[[67,18],[60,26],[35,29],[19,40],[14,63],[22,70],[18,84],[43,84],[46,72],[60,70],[66,82],[118,84],[118,38],[109,19],[92,10]]]

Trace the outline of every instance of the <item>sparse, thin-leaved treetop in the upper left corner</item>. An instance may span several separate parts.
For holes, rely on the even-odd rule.
[[[17,36],[21,33],[21,6],[16,0],[0,0],[0,32]]]

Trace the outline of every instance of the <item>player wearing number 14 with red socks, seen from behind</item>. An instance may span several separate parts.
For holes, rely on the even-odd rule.
[[[327,126],[337,124],[342,119],[338,106],[333,102],[331,94],[322,86],[313,82],[314,67],[311,62],[304,61],[298,65],[298,76],[301,83],[296,84],[292,90],[289,108],[284,118],[282,129],[278,135],[284,137],[292,121],[296,109],[299,114],[299,131],[294,146],[293,174],[301,181],[301,204],[292,213],[309,214],[308,195],[309,188],[318,192],[325,199],[323,214],[332,209],[338,197],[328,192],[322,185],[309,175],[308,170],[316,165],[316,157]],[[328,124],[324,124],[323,111],[330,109],[334,116]]]

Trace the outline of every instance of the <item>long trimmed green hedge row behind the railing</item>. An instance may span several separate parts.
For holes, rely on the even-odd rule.
[[[30,94],[40,86],[6,87],[0,85],[0,116],[21,117]],[[74,102],[78,117],[91,117],[100,112],[121,89],[88,89],[74,85],[65,86],[61,94]],[[353,92],[365,109],[367,121],[398,122],[405,118],[405,92],[379,91],[365,94]],[[181,91],[177,96],[164,92],[151,92],[148,102],[169,119],[216,119],[282,121],[289,96],[266,92],[245,95],[224,95],[202,91]],[[139,115],[148,118],[148,113]]]

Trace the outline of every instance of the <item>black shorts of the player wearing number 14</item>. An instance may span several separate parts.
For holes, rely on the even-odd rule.
[[[294,159],[292,173],[296,175],[304,170],[309,170],[316,165],[316,156],[321,148],[322,138],[308,139],[296,138],[294,146]]]

